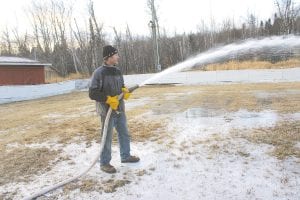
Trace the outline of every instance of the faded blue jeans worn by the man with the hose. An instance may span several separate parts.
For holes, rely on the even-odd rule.
[[[105,117],[106,116],[101,115],[102,131],[104,127]],[[116,128],[118,132],[121,160],[125,160],[130,156],[130,136],[128,133],[125,112],[120,112],[119,114],[117,114],[115,111],[113,111],[107,127],[107,136],[103,152],[100,155],[100,165],[109,164],[111,160],[111,142],[113,136],[113,128]]]

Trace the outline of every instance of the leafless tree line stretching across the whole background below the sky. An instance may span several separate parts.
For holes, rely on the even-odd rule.
[[[166,33],[164,27],[158,26],[162,69],[210,48],[247,38],[299,35],[299,5],[293,0],[275,0],[274,5],[277,11],[273,17],[260,20],[254,14],[248,14],[241,25],[236,25],[234,19],[224,19],[217,25],[211,18],[206,21],[200,20],[196,32],[174,33],[172,36]],[[52,69],[61,76],[70,73],[90,75],[102,64],[102,47],[109,41],[103,23],[95,16],[92,0],[88,3],[87,23],[84,29],[73,17],[72,5],[63,0],[50,0],[47,3],[32,1],[26,12],[32,24],[32,32],[20,34],[17,27],[4,30],[0,34],[1,56],[18,56],[49,62],[52,63]],[[159,20],[156,20],[158,25]],[[124,74],[155,71],[151,36],[133,35],[129,26],[121,31],[113,28],[113,31],[113,45],[119,49],[119,65],[122,66]]]

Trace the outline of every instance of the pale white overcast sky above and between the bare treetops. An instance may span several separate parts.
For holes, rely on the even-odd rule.
[[[21,31],[30,30],[24,8],[32,0],[0,0],[0,29],[19,27]],[[47,0],[44,0],[47,1]],[[87,16],[88,0],[71,0],[74,2],[74,17],[83,19]],[[267,19],[275,12],[274,0],[156,0],[161,27],[168,33],[193,32],[201,20],[209,23],[212,16],[216,23],[230,18],[237,24],[244,22],[249,13],[259,19]],[[294,0],[298,5],[300,0]],[[107,33],[112,27],[124,30],[126,24],[135,35],[148,35],[146,0],[94,0],[95,14],[103,22]]]

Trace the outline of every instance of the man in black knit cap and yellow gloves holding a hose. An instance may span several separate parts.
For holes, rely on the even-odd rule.
[[[113,110],[108,123],[104,149],[100,156],[101,170],[107,173],[116,173],[114,166],[110,165],[113,128],[116,128],[118,133],[121,162],[134,163],[140,160],[130,154],[130,136],[127,128],[124,100],[118,100],[118,95],[122,92],[125,100],[130,96],[130,92],[124,85],[123,75],[115,66],[118,64],[119,58],[116,48],[110,45],[104,46],[104,64],[93,72],[89,88],[89,96],[91,99],[96,100],[96,109],[101,116],[102,131],[109,107]]]

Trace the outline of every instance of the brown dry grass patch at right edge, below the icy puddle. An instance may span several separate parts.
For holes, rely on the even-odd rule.
[[[232,130],[230,135],[212,134],[204,140],[193,141],[192,144],[202,145],[212,155],[235,154],[241,157],[250,157],[250,153],[241,145],[242,140],[254,144],[269,144],[274,149],[271,156],[283,160],[294,156],[300,158],[300,121],[281,121],[273,127],[256,129]],[[237,140],[241,140],[238,142]],[[212,157],[211,157],[212,158]]]

